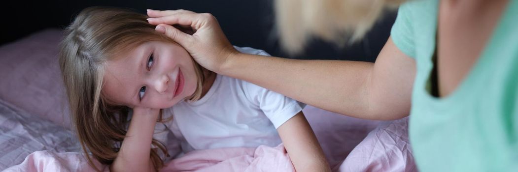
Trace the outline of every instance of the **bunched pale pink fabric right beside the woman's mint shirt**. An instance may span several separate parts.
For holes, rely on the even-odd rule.
[[[408,141],[408,117],[380,124],[336,171],[418,171]]]

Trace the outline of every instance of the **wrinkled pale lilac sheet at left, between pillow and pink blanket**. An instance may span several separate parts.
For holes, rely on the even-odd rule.
[[[0,170],[21,163],[38,150],[80,151],[72,132],[0,100]]]

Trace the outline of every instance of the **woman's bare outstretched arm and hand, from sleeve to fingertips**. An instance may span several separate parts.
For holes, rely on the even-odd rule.
[[[415,60],[387,40],[376,63],[296,60],[237,52],[210,14],[148,12],[156,30],[181,44],[205,68],[324,110],[365,119],[398,119],[410,111]],[[165,24],[164,24],[165,23]],[[168,24],[191,27],[188,35]]]

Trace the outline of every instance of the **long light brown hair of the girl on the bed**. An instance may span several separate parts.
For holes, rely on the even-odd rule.
[[[71,119],[85,157],[103,164],[117,157],[128,126],[130,108],[109,104],[101,89],[107,61],[147,41],[170,41],[147,22],[147,15],[127,9],[90,7],[82,10],[65,30],[59,55],[60,68],[71,111]],[[194,61],[194,60],[193,60]],[[197,88],[188,99],[202,93],[204,75],[194,61]],[[162,115],[159,117],[162,121]],[[167,155],[166,147],[153,139],[152,145]],[[157,149],[151,149],[155,169],[163,166]]]

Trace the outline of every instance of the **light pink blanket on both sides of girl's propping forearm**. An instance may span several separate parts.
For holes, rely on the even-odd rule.
[[[109,171],[106,165],[95,165]],[[78,152],[36,151],[5,171],[95,171]],[[295,171],[281,145],[272,148],[223,148],[195,150],[166,163],[161,171]]]

